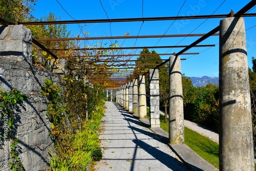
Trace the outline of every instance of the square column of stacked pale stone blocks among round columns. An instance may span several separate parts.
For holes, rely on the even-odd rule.
[[[150,70],[149,83],[150,83],[150,126],[160,127],[158,70],[154,70],[154,69]]]

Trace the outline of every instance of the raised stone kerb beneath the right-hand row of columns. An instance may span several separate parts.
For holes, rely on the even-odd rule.
[[[151,129],[156,135],[159,136],[172,151],[179,157],[179,159],[187,165],[191,170],[218,170],[215,166],[208,163],[202,157],[200,157],[196,152],[194,152],[190,147],[185,144],[169,144],[168,143],[168,133],[166,133],[161,128],[151,128],[150,121],[145,119],[139,119],[138,114],[133,114],[135,118],[137,118],[141,123],[143,123],[146,127]]]

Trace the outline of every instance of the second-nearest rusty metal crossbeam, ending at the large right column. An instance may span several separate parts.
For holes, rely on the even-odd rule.
[[[170,34],[170,35],[144,35],[144,36],[106,36],[106,37],[69,37],[69,38],[38,38],[37,41],[67,41],[67,40],[98,40],[98,39],[121,39],[121,38],[163,38],[163,37],[195,37],[204,34]],[[212,36],[219,36],[219,33]]]

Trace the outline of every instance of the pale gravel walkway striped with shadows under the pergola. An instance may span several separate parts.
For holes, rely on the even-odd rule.
[[[172,147],[166,143],[166,137],[155,134],[145,127],[146,122],[126,112],[115,102],[106,102],[105,116],[102,118],[103,130],[99,135],[103,157],[97,162],[96,171],[106,170],[216,170],[215,167],[201,167],[182,162],[179,153],[190,153],[187,146]],[[191,154],[189,158],[197,158]],[[200,159],[201,160],[201,159]],[[183,160],[184,161],[184,160]],[[206,168],[206,169],[205,169]]]

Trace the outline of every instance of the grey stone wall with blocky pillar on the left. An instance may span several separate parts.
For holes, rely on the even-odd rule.
[[[30,30],[22,25],[0,27],[0,89],[10,92],[15,88],[29,97],[19,106],[16,113],[20,118],[15,120],[19,158],[25,170],[47,169],[51,160],[48,151],[53,151],[53,142],[49,136],[51,123],[46,115],[47,99],[40,96],[46,78],[60,84],[58,75],[32,65]],[[9,163],[6,167],[4,162],[3,122],[0,124],[0,170],[8,170]]]

